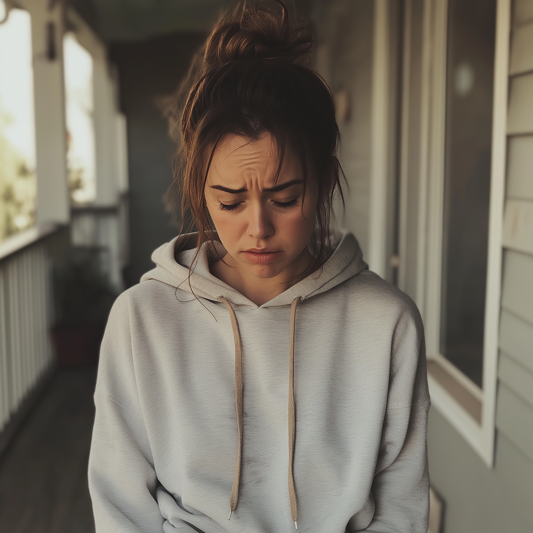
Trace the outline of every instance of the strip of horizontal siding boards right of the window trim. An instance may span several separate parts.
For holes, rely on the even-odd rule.
[[[533,462],[533,0],[514,3],[496,427]]]

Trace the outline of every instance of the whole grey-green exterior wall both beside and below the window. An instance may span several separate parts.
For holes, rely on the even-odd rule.
[[[494,469],[433,407],[432,486],[444,533],[533,530],[533,0],[513,7]]]

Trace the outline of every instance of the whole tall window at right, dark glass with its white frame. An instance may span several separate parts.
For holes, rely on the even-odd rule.
[[[406,0],[403,41],[399,286],[424,320],[432,404],[489,466],[510,4]]]

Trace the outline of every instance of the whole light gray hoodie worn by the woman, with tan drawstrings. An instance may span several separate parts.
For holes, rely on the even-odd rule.
[[[209,273],[206,246],[189,277],[195,240],[158,248],[111,311],[89,463],[96,531],[288,533],[297,507],[298,532],[426,533],[414,303],[368,270],[350,233],[261,306]]]

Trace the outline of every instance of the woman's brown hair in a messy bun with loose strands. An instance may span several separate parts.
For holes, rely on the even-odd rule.
[[[285,4],[276,2],[270,7],[245,4],[224,15],[193,61],[167,112],[171,131],[177,133],[179,125],[181,133],[173,189],[181,193],[182,220],[192,219],[184,227],[196,225],[198,253],[216,239],[204,190],[217,146],[230,134],[255,141],[270,133],[278,149],[276,179],[290,149],[300,161],[304,195],[310,176],[318,187],[309,243],[314,259],[303,273],[307,276],[328,256],[330,212],[335,193],[342,198],[344,173],[337,159],[332,95],[324,79],[305,66],[313,39],[289,17]]]

